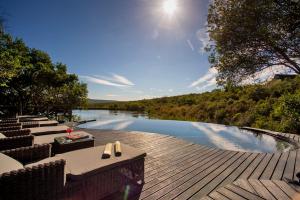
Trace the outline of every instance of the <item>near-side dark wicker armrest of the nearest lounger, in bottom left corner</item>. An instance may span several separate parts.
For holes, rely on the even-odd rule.
[[[0,174],[0,199],[61,199],[65,160]]]

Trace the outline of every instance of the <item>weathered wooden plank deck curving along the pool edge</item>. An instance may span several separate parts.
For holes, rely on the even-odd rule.
[[[216,194],[219,196],[221,194],[218,189],[230,190],[234,194],[229,193],[235,197],[226,197],[222,193],[222,198],[219,199],[253,199],[252,197],[256,196],[268,199],[259,195],[256,190],[253,193],[256,196],[251,196],[249,191],[240,187],[243,189],[241,194],[248,195],[244,197],[232,191],[232,188],[236,187],[232,184],[241,179],[283,180],[279,182],[279,184],[283,182],[283,186],[278,187],[281,187],[281,193],[284,192],[289,198],[291,197],[288,193],[296,193],[298,190],[296,184],[286,183],[298,180],[295,174],[300,172],[299,149],[274,154],[236,152],[209,148],[155,133],[84,130],[95,136],[96,145],[119,140],[147,153],[145,184],[142,192],[131,199],[218,199]],[[299,142],[298,136],[290,138],[295,138]],[[272,184],[276,183],[272,181],[270,183],[262,181],[260,184],[267,184],[265,189],[269,191],[273,187]],[[278,188],[273,189],[277,191]],[[282,199],[280,198],[282,196],[270,193],[272,194],[270,199]],[[123,199],[122,196],[114,197],[118,198]]]

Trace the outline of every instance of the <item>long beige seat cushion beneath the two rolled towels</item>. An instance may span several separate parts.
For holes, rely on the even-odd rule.
[[[146,156],[146,153],[121,144],[122,156],[115,157],[114,153],[108,159],[103,159],[102,154],[105,146],[97,146],[86,149],[80,149],[63,154],[57,154],[55,157],[66,160],[67,176],[71,180],[80,180],[92,174],[99,173],[109,168],[116,167],[125,162],[136,158]]]

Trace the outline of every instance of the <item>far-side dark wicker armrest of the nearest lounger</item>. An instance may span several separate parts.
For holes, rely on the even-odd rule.
[[[17,149],[1,151],[1,153],[4,153],[9,157],[18,160],[23,165],[26,165],[28,163],[49,158],[51,156],[51,145],[42,144],[42,145],[34,145],[31,147],[21,147]]]

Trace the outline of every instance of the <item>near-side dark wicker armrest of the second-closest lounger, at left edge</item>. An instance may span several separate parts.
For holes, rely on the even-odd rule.
[[[7,137],[0,139],[0,151],[33,145],[33,135]]]

